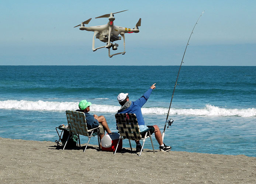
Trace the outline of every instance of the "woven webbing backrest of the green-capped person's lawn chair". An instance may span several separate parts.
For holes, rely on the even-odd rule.
[[[83,112],[66,110],[66,116],[70,132],[88,136],[86,118]]]

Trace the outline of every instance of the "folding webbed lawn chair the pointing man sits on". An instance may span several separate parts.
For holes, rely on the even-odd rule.
[[[142,139],[143,144],[142,144],[141,152],[139,153],[139,156],[141,156],[143,146],[145,144],[145,140],[146,140],[146,138],[150,137],[153,152],[155,153],[155,149],[154,149],[153,141],[152,141],[152,135],[150,133],[150,130],[152,128],[148,128],[147,130],[144,130],[141,132],[139,130],[139,125],[138,125],[138,120],[137,120],[136,114],[118,113],[118,114],[115,114],[115,120],[117,122],[117,128],[120,133],[120,137],[118,139],[117,146],[118,146],[121,138],[128,139],[130,148],[132,151],[132,145],[131,145],[130,140],[141,140]],[[142,133],[145,133],[144,137],[142,137],[142,135],[141,135]],[[116,151],[117,151],[117,149],[115,150],[114,155],[115,155]]]

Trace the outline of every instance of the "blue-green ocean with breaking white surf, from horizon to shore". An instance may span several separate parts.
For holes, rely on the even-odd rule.
[[[78,109],[83,99],[92,103],[91,114],[104,115],[117,132],[117,95],[129,93],[134,101],[154,83],[142,113],[146,125],[163,131],[178,71],[179,66],[0,66],[0,137],[54,142],[55,127],[67,124],[65,110]],[[172,151],[256,156],[255,66],[182,66],[177,83],[169,114],[174,122],[164,138]],[[97,138],[90,144],[97,145]],[[153,144],[158,148],[155,138]],[[149,140],[145,148],[152,149]]]

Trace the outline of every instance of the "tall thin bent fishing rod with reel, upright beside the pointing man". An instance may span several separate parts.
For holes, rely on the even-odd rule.
[[[203,13],[204,13],[204,11],[201,13],[200,17],[202,17]],[[200,17],[198,18],[197,22],[199,21]],[[196,27],[197,22],[194,25],[194,28]],[[191,32],[191,34],[189,36],[189,39],[187,41],[187,46],[189,45],[188,42],[189,42],[189,40],[191,38],[191,35],[192,35],[193,31],[194,31],[194,28],[193,28],[193,30],[192,30],[192,32]],[[186,49],[184,51],[184,54],[183,54],[183,57],[182,57],[182,60],[181,60],[181,63],[180,63],[180,68],[181,68],[182,63],[184,63],[183,59],[184,59],[184,56],[185,56],[185,53],[186,53],[186,50],[187,50],[187,46],[186,46]],[[177,75],[177,78],[176,78],[176,82],[175,82],[175,85],[174,85],[174,89],[173,89],[173,93],[172,93],[172,99],[173,99],[173,95],[174,95],[174,91],[175,91],[176,85],[179,85],[179,84],[177,84],[177,81],[178,81],[178,77],[179,77],[179,74],[180,74],[180,68],[179,68],[179,72],[178,72],[178,75]],[[170,108],[171,108],[171,105],[172,105],[172,99],[171,99],[169,110],[168,110],[168,113],[167,113],[167,117],[166,117],[166,121],[165,121],[165,128],[163,129],[163,134],[162,134],[162,139],[165,137],[166,124],[168,123],[168,127],[167,128],[169,128],[169,126],[171,126],[173,121],[174,121],[173,119],[168,120],[169,113],[170,113]]]

